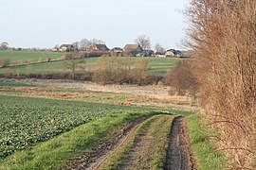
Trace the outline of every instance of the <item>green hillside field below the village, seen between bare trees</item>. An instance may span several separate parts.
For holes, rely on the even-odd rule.
[[[133,61],[136,61],[138,58],[132,58]],[[174,67],[177,61],[180,59],[177,58],[145,58],[149,60],[149,72],[151,74],[160,74],[165,75],[170,69]],[[96,66],[96,62],[99,58],[86,58],[86,67],[89,70],[93,70]],[[67,73],[69,71],[64,69],[62,61],[55,62],[46,62],[46,63],[36,63],[31,64],[32,70],[31,74],[49,74],[49,73]],[[15,66],[11,68],[1,68],[0,74],[27,74],[27,65]]]

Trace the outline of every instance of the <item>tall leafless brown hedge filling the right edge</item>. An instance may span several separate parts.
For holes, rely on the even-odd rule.
[[[256,168],[255,0],[191,0],[187,45],[194,51],[200,105],[217,127],[232,169]]]

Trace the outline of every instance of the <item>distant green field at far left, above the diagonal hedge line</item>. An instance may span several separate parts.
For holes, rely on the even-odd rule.
[[[8,58],[10,63],[18,63],[22,61],[38,61],[39,59],[60,59],[64,53],[58,52],[40,52],[40,51],[0,51],[0,59]]]

